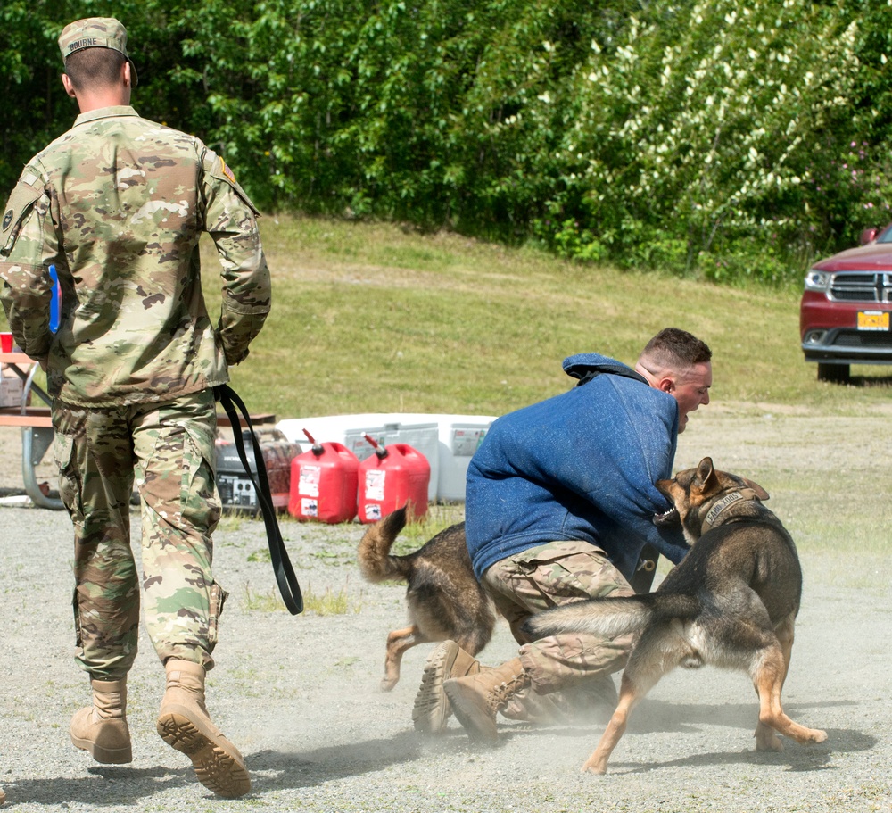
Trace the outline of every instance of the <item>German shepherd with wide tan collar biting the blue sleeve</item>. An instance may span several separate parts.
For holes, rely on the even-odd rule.
[[[793,722],[780,706],[789,668],[802,571],[787,530],[762,504],[768,494],[744,477],[717,471],[708,457],[657,488],[681,520],[690,552],[655,593],[580,601],[527,623],[539,638],[558,632],[637,633],[619,703],[598,748],[582,766],[603,774],[635,705],[673,668],[714,664],[741,669],[759,696],[756,749],[780,751],[777,734],[802,744],[827,734]]]

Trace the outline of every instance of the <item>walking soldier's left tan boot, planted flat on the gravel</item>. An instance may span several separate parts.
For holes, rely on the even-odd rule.
[[[96,762],[123,765],[133,761],[127,726],[127,678],[91,678],[93,705],[79,709],[71,718],[71,742],[89,751]]]

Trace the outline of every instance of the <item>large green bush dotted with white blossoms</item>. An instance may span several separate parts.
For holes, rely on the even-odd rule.
[[[565,185],[549,205],[581,208],[632,264],[720,278],[723,254],[777,255],[814,233],[814,178],[830,165],[816,145],[846,119],[857,71],[855,23],[806,0],[633,19],[576,73]]]

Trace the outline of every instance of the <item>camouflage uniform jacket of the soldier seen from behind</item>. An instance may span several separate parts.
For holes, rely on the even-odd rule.
[[[3,212],[0,297],[16,342],[45,363],[64,402],[161,402],[222,384],[267,317],[257,212],[232,172],[198,138],[132,107],[78,116],[25,167]],[[216,329],[202,296],[202,231],[222,265]]]

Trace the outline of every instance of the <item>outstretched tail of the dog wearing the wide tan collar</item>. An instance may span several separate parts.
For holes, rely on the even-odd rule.
[[[700,602],[677,593],[646,593],[614,598],[574,601],[546,610],[524,623],[524,633],[533,639],[561,633],[591,633],[615,638],[637,632],[655,621],[694,618]]]

